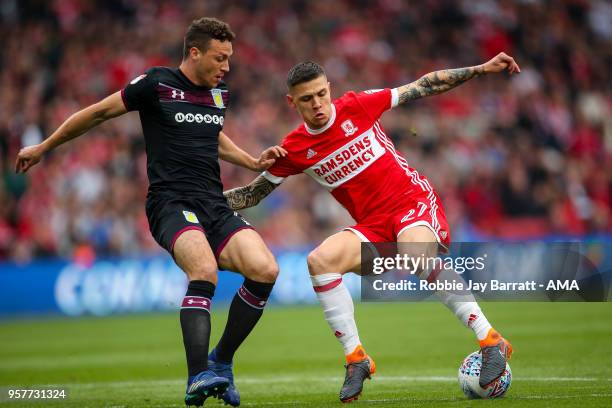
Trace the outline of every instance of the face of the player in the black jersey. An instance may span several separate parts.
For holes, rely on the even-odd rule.
[[[232,43],[229,41],[210,40],[206,52],[194,53],[196,76],[205,86],[214,88],[229,72],[229,59],[232,56]]]

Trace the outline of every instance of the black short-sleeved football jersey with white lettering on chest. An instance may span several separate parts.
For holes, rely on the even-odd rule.
[[[229,91],[192,83],[178,68],[154,67],[133,79],[121,96],[140,114],[150,193],[223,199],[219,132]]]

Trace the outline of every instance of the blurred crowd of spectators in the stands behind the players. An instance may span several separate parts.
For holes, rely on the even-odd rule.
[[[321,63],[340,96],[395,87],[500,51],[520,75],[477,78],[394,109],[383,126],[442,196],[454,240],[612,232],[612,3],[463,1],[0,1],[0,259],[160,251],[144,214],[137,113],[58,148],[26,175],[18,150],[154,65],[216,16],[237,34],[225,131],[256,156],[299,124],[295,63]],[[257,174],[223,164],[227,188]],[[245,211],[273,248],[350,225],[305,175]]]

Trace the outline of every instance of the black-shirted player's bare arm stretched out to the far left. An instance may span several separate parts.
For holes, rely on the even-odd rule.
[[[100,123],[123,115],[127,112],[121,92],[104,98],[98,103],[88,106],[70,116],[55,132],[42,143],[24,147],[17,154],[15,171],[25,173],[28,169],[38,163],[43,154],[55,149],[62,143],[82,135],[89,129],[98,126]]]

